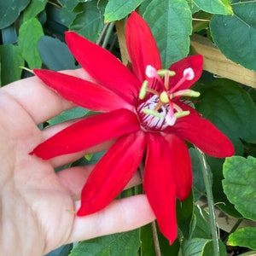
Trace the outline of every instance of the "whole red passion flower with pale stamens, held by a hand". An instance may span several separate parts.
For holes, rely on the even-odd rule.
[[[162,69],[152,32],[136,12],[127,20],[125,38],[132,71],[75,32],[66,33],[67,45],[96,83],[34,70],[68,101],[101,113],[68,126],[30,154],[48,160],[117,138],[85,183],[77,214],[84,216],[108,206],[145,157],[143,188],[161,232],[172,243],[177,237],[176,199],[186,199],[192,187],[185,141],[219,158],[231,156],[234,148],[184,101],[184,97],[199,96],[189,88],[201,76],[202,56],[189,56]]]

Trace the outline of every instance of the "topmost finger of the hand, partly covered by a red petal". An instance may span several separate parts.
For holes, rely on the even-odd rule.
[[[83,69],[67,70],[63,73],[92,80]],[[15,81],[1,88],[1,92],[12,96],[27,113],[30,113],[36,124],[43,123],[62,111],[74,107],[73,102],[64,100],[37,77]]]

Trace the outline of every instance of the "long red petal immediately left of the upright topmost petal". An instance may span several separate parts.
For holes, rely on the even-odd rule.
[[[96,79],[99,84],[113,90],[129,103],[133,103],[141,83],[108,50],[79,36],[76,32],[66,32],[66,41],[77,61]]]

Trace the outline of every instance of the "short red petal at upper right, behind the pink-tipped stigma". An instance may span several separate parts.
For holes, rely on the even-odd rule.
[[[184,81],[183,84],[181,84],[178,87],[178,90],[189,89],[189,87],[191,87],[192,84],[195,84],[195,82],[198,79],[200,79],[201,73],[202,73],[202,65],[203,65],[202,55],[189,56],[180,61],[173,63],[169,69],[172,71],[175,71],[176,75],[170,79],[169,88],[172,89],[172,87],[174,87],[175,84],[177,84],[178,81],[183,78],[183,71],[186,68],[191,67],[195,73],[194,79]]]

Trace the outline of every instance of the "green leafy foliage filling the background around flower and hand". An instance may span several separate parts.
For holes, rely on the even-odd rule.
[[[64,42],[67,30],[102,44],[120,58],[120,48],[124,46],[118,44],[118,39],[122,34],[111,24],[125,21],[135,9],[154,33],[163,67],[189,55],[190,35],[197,33],[212,40],[231,61],[256,71],[254,0],[12,0],[0,3],[0,85],[30,75],[20,67],[77,68]],[[236,148],[237,156],[225,161],[207,158],[215,202],[223,203],[218,207],[237,221],[250,218],[255,222],[256,97],[255,90],[248,90],[245,85],[204,73],[195,85],[196,90],[201,91],[201,97],[194,103],[205,118],[230,137]],[[54,125],[84,114],[90,113],[74,108],[44,125]],[[198,155],[194,148],[189,151],[194,169],[193,191],[186,201],[177,202],[179,239],[172,246],[156,227],[162,255],[212,255],[209,215],[197,205],[197,201],[206,196],[205,183],[202,182]],[[88,164],[96,159],[88,157],[74,165]],[[67,245],[49,255],[155,255],[153,233],[147,225],[140,230],[82,241],[74,248]],[[256,250],[256,228],[248,226],[232,230],[228,240],[231,246]],[[218,244],[219,255],[226,255],[224,239]]]

